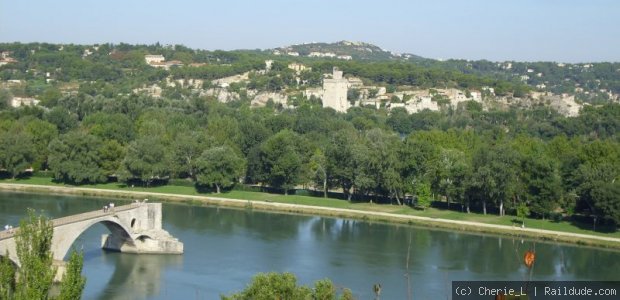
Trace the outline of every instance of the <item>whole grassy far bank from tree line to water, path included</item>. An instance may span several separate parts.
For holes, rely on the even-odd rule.
[[[0,183],[26,186],[2,186],[4,189],[72,193],[90,196],[142,199],[157,201],[182,201],[193,205],[219,205],[251,207],[254,209],[287,211],[335,217],[359,218],[385,222],[421,224],[465,231],[498,233],[512,236],[535,237],[583,245],[620,249],[620,232],[593,232],[587,225],[566,221],[526,219],[526,229],[513,227],[514,216],[495,216],[461,213],[452,210],[429,208],[415,210],[407,206],[349,203],[339,199],[325,199],[300,195],[280,195],[261,192],[230,191],[222,194],[198,193],[188,186],[159,186],[152,188],[127,187],[117,183],[74,187],[57,184],[50,178],[33,177],[23,180],[2,180]]]

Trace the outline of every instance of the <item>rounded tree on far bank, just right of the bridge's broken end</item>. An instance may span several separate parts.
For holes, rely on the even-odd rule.
[[[196,161],[196,182],[221,188],[233,186],[243,176],[245,162],[228,146],[205,150]]]

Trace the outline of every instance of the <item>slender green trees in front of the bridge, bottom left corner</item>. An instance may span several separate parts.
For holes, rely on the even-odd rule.
[[[49,299],[56,268],[51,252],[54,228],[44,216],[28,210],[28,216],[16,229],[15,244],[20,268],[13,269],[7,259],[0,261],[0,296],[2,299]],[[7,255],[8,257],[8,255]],[[58,299],[79,299],[86,279],[82,277],[83,255],[72,251],[62,278]]]

